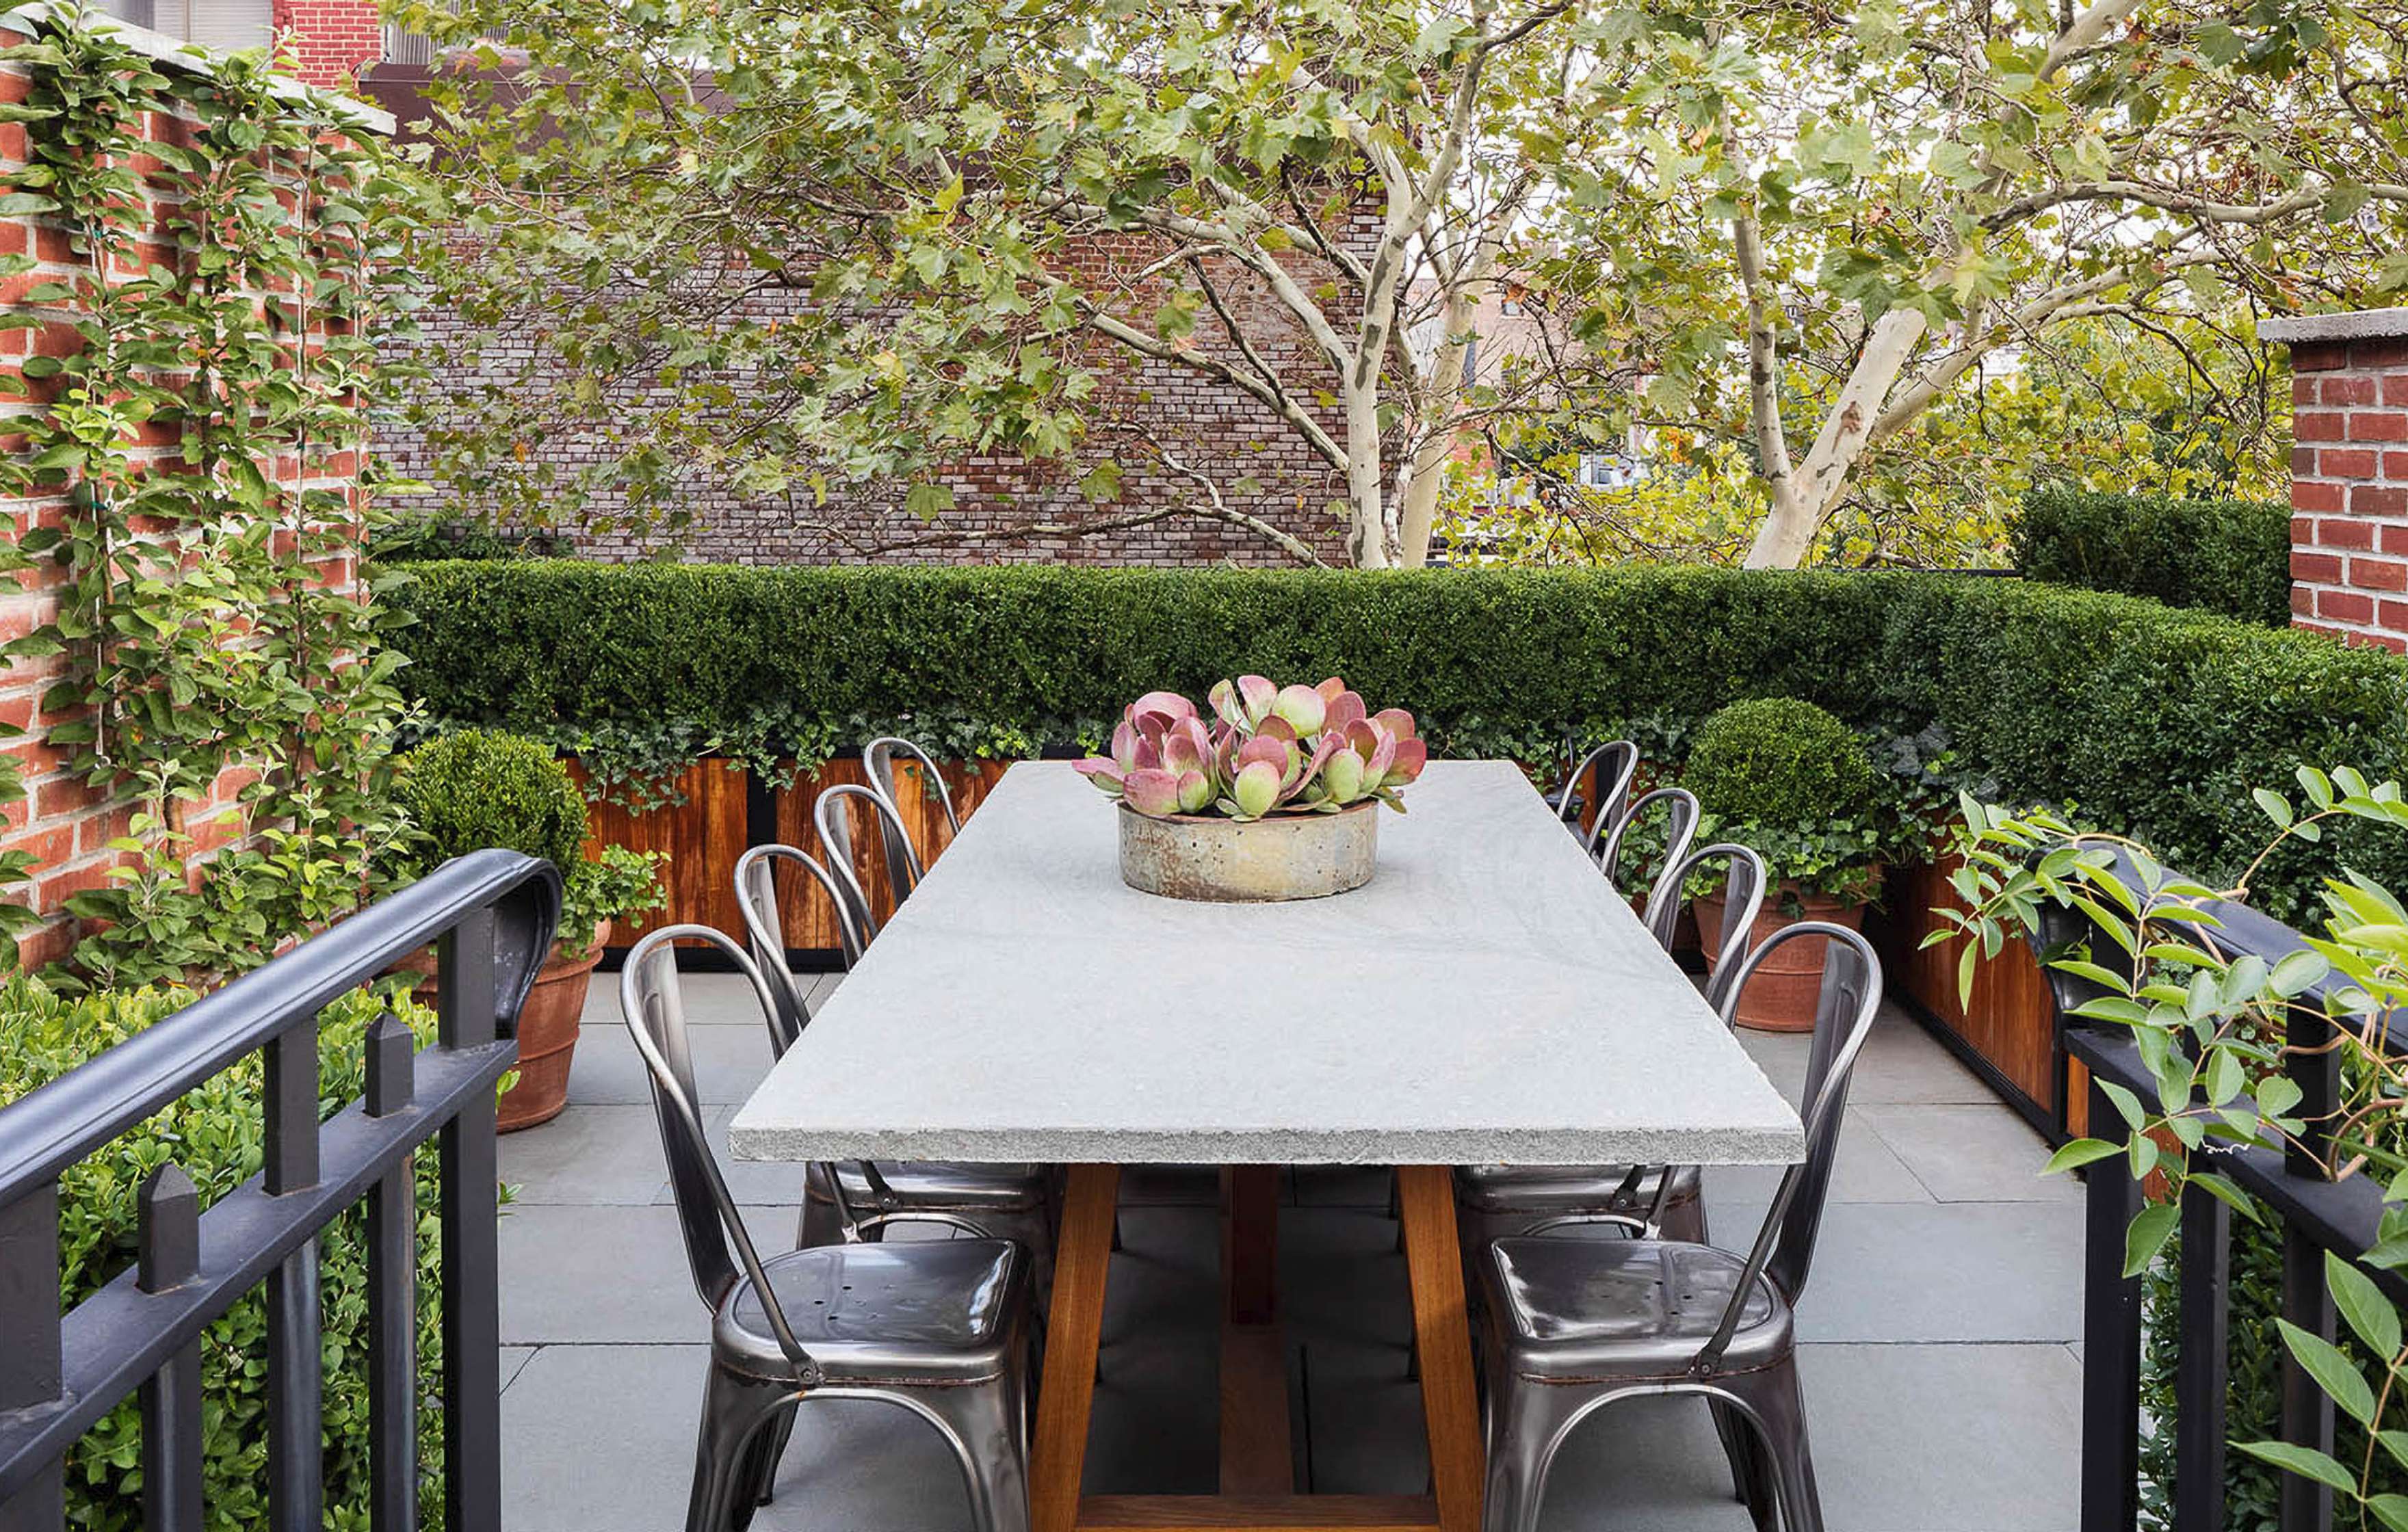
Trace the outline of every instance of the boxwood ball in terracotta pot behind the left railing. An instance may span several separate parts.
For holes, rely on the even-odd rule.
[[[501,1130],[549,1123],[568,1106],[585,988],[612,920],[657,911],[660,853],[604,845],[585,855],[585,797],[549,747],[496,730],[462,730],[402,756],[395,795],[412,821],[412,872],[503,845],[561,870],[561,930],[518,1014],[518,1077],[501,1096]],[[433,990],[433,954],[409,966]]]

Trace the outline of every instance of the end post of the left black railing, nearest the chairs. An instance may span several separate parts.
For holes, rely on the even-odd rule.
[[[494,913],[436,944],[443,1048],[494,1043]],[[460,1108],[443,1161],[443,1527],[501,1532],[501,1207],[494,1098]]]

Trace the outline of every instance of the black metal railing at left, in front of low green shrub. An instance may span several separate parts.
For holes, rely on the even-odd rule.
[[[0,1530],[65,1525],[60,1460],[142,1395],[152,1532],[202,1525],[200,1334],[267,1289],[267,1477],[279,1532],[325,1525],[318,1236],[366,1202],[371,1520],[417,1520],[417,1188],[441,1159],[445,1527],[501,1527],[501,1308],[494,1086],[518,1057],[518,1009],[551,947],[561,879],[484,850],[438,867],[265,968],[195,1000],[0,1108]],[[318,1012],[436,942],[438,1033],[417,1050],[368,1029],[359,1101],[318,1118]],[[265,1062],[265,1166],[207,1212],[176,1166],[140,1192],[137,1265],[60,1313],[58,1180],[222,1070]]]

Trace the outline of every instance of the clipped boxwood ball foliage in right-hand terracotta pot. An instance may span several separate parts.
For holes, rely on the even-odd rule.
[[[1811,701],[1760,696],[1698,727],[1681,785],[1714,819],[1816,824],[1871,814],[1881,778],[1845,723]]]

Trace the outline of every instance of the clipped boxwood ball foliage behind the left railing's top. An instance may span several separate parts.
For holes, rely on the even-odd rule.
[[[436,867],[501,845],[571,872],[585,848],[585,795],[549,744],[460,730],[402,756],[397,795]]]

